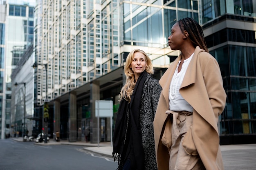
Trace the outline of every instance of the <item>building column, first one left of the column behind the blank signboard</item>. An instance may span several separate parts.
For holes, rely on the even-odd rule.
[[[69,94],[69,117],[68,117],[68,141],[75,142],[76,141],[76,93],[71,92]]]

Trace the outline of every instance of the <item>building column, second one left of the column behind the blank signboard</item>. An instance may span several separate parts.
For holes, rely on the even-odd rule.
[[[54,126],[53,132],[61,132],[61,102],[59,99],[54,100]]]

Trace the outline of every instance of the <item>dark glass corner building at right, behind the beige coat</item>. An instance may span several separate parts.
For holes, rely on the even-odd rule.
[[[220,142],[255,142],[256,0],[212,2],[203,0],[202,18],[207,46],[220,65],[227,93],[226,107],[220,115]]]

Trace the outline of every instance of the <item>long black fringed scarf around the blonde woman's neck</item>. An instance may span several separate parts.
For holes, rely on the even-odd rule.
[[[114,129],[114,135],[113,135],[113,152],[112,155],[114,157],[114,161],[117,161],[117,153],[118,153],[118,159],[121,157],[121,160],[124,161],[124,157],[126,154],[126,147],[124,147],[124,139],[126,137],[127,140],[130,141],[130,145],[132,145],[132,151],[134,158],[131,162],[135,163],[137,170],[145,170],[145,159],[144,159],[144,150],[142,147],[142,137],[141,137],[141,127],[140,127],[140,106],[141,106],[141,97],[143,93],[143,86],[146,79],[146,71],[140,74],[132,96],[130,104],[124,100],[121,99],[121,102],[119,104],[118,112],[117,112],[117,120],[116,125]],[[129,110],[129,112],[128,112]],[[127,113],[129,113],[129,123],[130,123],[130,134],[126,134],[126,127],[128,124],[128,117]],[[124,163],[124,162],[123,162]],[[121,163],[121,164],[123,164]]]

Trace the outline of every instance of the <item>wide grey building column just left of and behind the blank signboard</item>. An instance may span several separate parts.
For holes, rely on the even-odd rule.
[[[91,105],[91,124],[90,124],[90,142],[98,142],[98,126],[97,126],[97,117],[95,116],[95,100],[100,99],[100,87],[99,81],[93,81],[90,84],[90,105]],[[100,140],[100,139],[99,139]]]

